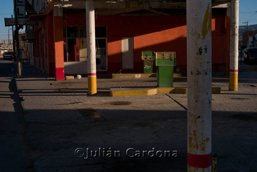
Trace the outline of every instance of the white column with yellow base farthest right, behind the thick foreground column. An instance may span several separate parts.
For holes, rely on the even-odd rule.
[[[229,90],[237,91],[238,86],[238,18],[239,0],[230,2],[230,74]]]

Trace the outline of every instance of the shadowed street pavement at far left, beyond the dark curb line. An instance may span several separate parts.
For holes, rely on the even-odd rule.
[[[21,102],[13,78],[12,61],[0,58],[0,169],[27,171]]]

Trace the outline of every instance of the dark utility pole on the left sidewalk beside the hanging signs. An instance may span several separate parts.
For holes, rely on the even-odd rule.
[[[14,18],[15,18],[15,40],[16,40],[16,57],[18,64],[18,75],[22,76],[21,61],[20,61],[20,42],[19,42],[19,29],[18,29],[18,17],[17,17],[17,4],[16,0],[13,0],[14,5]]]

